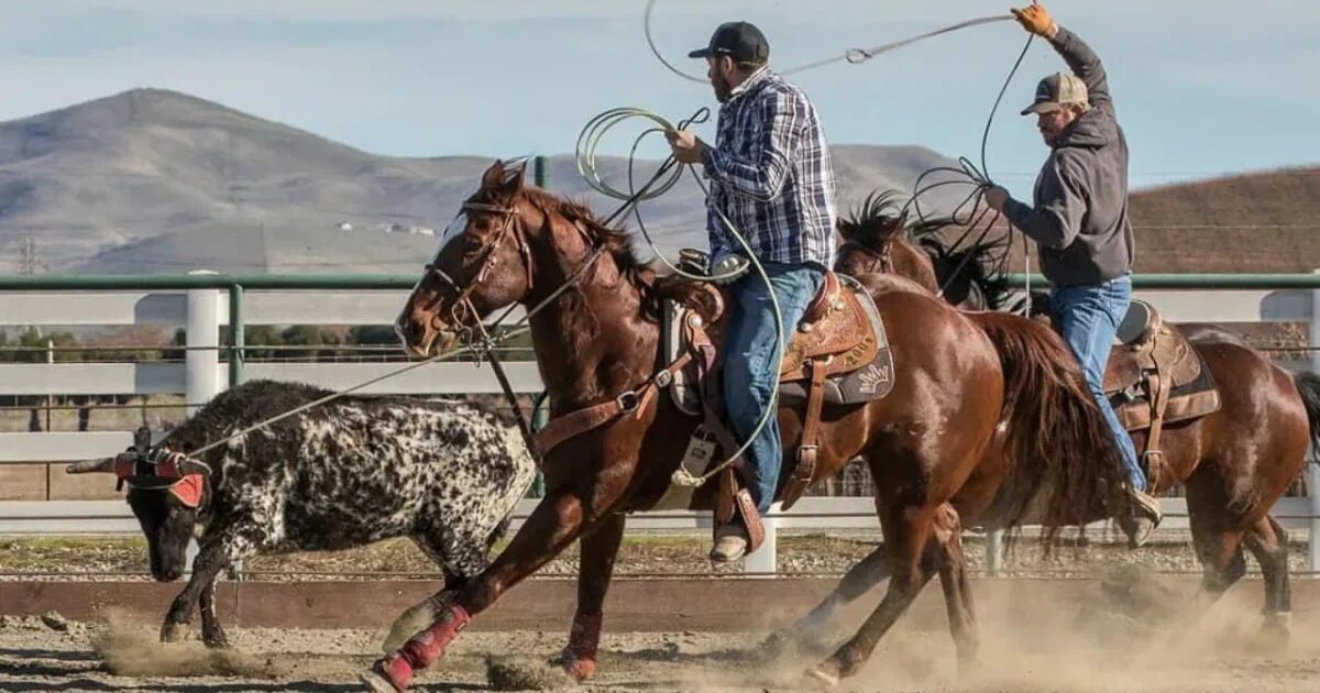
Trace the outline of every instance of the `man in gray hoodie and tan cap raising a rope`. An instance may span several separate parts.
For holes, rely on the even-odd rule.
[[[1036,178],[1034,203],[1018,202],[998,186],[986,191],[986,203],[1036,242],[1040,271],[1052,285],[1053,318],[1127,465],[1137,515],[1117,520],[1131,545],[1139,546],[1159,524],[1159,502],[1146,494],[1137,449],[1102,389],[1109,350],[1133,297],[1127,139],[1114,115],[1105,67],[1090,46],[1055,24],[1036,3],[1012,13],[1028,32],[1049,40],[1072,74],[1041,79],[1035,102],[1022,111],[1036,115],[1051,149]]]

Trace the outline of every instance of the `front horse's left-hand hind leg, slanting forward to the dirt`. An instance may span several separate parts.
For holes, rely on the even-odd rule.
[[[817,664],[808,675],[836,685],[841,678],[857,673],[870,659],[880,638],[935,576],[940,549],[931,541],[931,531],[937,511],[939,508],[921,506],[888,506],[884,513],[887,521],[882,524],[894,576],[890,578],[884,599],[843,647]]]

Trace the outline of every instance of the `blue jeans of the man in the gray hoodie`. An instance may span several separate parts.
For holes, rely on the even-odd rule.
[[[1131,302],[1133,279],[1127,275],[1088,286],[1057,286],[1049,293],[1051,312],[1060,322],[1064,342],[1068,342],[1081,364],[1082,374],[1086,375],[1086,384],[1096,397],[1096,404],[1100,405],[1105,421],[1118,440],[1118,451],[1123,455],[1123,465],[1127,466],[1127,477],[1134,488],[1144,491],[1146,473],[1137,462],[1137,447],[1118,421],[1114,408],[1109,405],[1104,389],[1109,350],[1114,343],[1114,334],[1118,333],[1118,323],[1123,321]]]

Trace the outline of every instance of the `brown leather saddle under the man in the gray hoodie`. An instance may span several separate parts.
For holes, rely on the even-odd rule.
[[[1200,352],[1150,304],[1131,302],[1114,342],[1105,395],[1123,428],[1150,432],[1142,458],[1155,483],[1164,461],[1159,447],[1164,425],[1218,411],[1220,392]]]

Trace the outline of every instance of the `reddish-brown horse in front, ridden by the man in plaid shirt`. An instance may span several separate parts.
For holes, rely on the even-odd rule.
[[[616,416],[544,455],[545,498],[486,572],[432,599],[429,628],[376,663],[368,680],[381,688],[407,686],[413,669],[438,659],[473,615],[574,540],[582,543],[578,605],[561,663],[579,678],[590,675],[626,516],[664,494],[698,424],[656,378],[667,366],[660,301],[693,289],[657,281],[627,236],[583,206],[524,186],[521,166],[496,162],[463,209],[462,231],[442,242],[399,318],[407,348],[417,356],[447,348],[483,315],[521,304],[529,306],[552,417],[602,404]],[[884,533],[869,561],[883,561],[892,577],[857,635],[812,669],[824,680],[857,672],[936,573],[960,661],[975,657],[960,517],[987,516],[994,504],[993,515],[1011,525],[1030,503],[1045,508],[1043,524],[1061,527],[1129,512],[1114,483],[1123,478],[1117,446],[1053,333],[1015,315],[962,314],[924,292],[894,290],[911,288],[907,281],[861,279],[874,286],[888,326],[896,381],[882,400],[826,407],[816,477],[858,455],[869,459]],[[792,449],[804,407],[777,413]],[[785,455],[780,492],[793,463]],[[697,490],[693,510],[711,507],[710,486]]]

